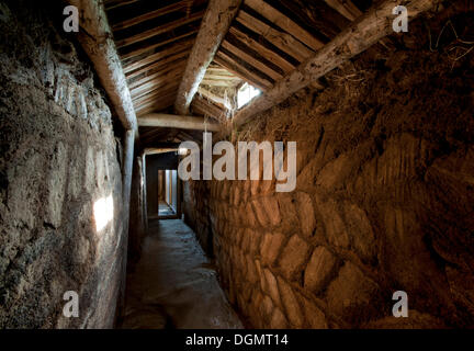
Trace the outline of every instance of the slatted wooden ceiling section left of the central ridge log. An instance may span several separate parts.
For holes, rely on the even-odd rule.
[[[206,0],[105,1],[138,116],[173,104],[206,5]]]

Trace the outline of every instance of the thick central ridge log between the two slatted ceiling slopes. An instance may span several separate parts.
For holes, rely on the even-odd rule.
[[[174,109],[187,114],[205,71],[227,33],[241,0],[210,0],[178,91]]]

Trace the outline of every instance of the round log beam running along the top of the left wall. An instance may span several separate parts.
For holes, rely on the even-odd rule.
[[[93,63],[95,71],[105,89],[113,107],[126,131],[138,135],[135,110],[122,70],[112,31],[109,26],[102,1],[69,0],[80,9],[81,19],[78,38]]]

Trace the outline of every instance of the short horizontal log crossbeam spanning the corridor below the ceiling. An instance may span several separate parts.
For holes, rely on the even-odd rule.
[[[181,116],[165,113],[149,113],[138,117],[138,125],[142,127],[161,127],[208,132],[221,131],[219,124],[205,121],[203,117]]]

